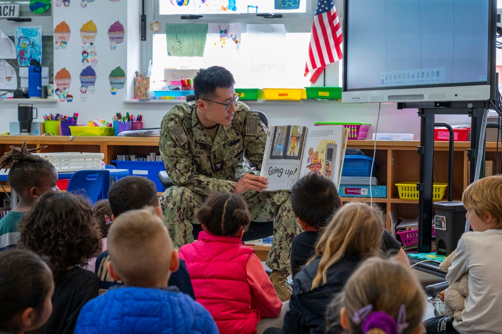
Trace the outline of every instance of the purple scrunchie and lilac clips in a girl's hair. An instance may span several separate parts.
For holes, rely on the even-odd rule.
[[[383,311],[371,312],[372,309],[373,305],[366,305],[352,316],[352,321],[355,324],[361,324],[361,330],[364,334],[372,328],[380,328],[386,334],[402,334],[403,330],[408,328],[408,322],[405,322],[406,307],[404,304],[399,307],[397,321]]]

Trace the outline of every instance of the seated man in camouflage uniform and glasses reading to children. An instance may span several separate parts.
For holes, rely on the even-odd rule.
[[[194,78],[194,102],[180,103],[164,116],[159,149],[173,186],[160,197],[163,220],[176,247],[193,241],[195,210],[213,191],[241,194],[251,220],[273,220],[274,239],[267,257],[270,280],[279,298],[291,288],[290,246],[300,233],[288,192],[267,192],[261,167],[267,129],[257,113],[238,102],[234,78],[223,67],[201,69]],[[254,171],[254,172],[253,172]]]

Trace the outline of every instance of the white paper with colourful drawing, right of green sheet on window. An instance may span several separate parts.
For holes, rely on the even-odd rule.
[[[240,23],[210,23],[205,56],[225,53],[229,56],[239,54],[241,45]]]

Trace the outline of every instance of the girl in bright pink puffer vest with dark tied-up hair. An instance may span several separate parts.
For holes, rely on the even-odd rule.
[[[204,231],[179,251],[195,300],[220,333],[256,333],[260,318],[276,318],[282,303],[253,249],[242,244],[250,222],[246,203],[239,195],[213,193],[196,218]]]

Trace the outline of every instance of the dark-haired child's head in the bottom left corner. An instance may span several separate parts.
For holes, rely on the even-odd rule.
[[[52,312],[52,272],[27,250],[0,253],[0,332],[20,334],[45,323]]]

